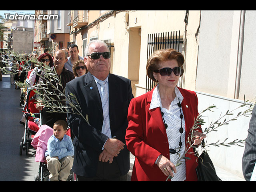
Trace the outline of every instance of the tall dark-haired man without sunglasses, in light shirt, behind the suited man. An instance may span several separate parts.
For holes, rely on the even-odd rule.
[[[68,61],[65,63],[65,68],[73,72],[72,68],[74,63],[80,59],[84,60],[84,58],[78,55],[79,49],[76,44],[71,44],[70,46],[68,46],[68,52],[70,56],[68,57]]]

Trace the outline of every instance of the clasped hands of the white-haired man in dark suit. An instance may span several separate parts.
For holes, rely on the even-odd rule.
[[[104,149],[116,157],[120,153],[120,150],[124,149],[124,143],[116,138],[108,139],[104,145]]]

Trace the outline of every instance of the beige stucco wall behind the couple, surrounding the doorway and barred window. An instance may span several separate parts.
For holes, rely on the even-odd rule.
[[[90,10],[88,24],[108,11]],[[132,80],[134,96],[145,93],[148,34],[179,31],[185,35],[185,10],[130,10],[117,13],[88,29],[87,43],[98,36],[99,40],[111,39],[114,49],[111,56],[111,72]],[[127,22],[128,21],[128,22]],[[184,88],[194,90],[198,44],[197,28],[200,11],[190,11],[187,26],[187,49]],[[82,52],[83,32],[76,34],[76,44]],[[82,53],[80,54],[82,55]],[[135,92],[136,90],[136,92]]]

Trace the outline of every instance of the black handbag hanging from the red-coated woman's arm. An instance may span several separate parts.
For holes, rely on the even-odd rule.
[[[198,156],[198,166],[196,167],[198,181],[221,181],[221,179],[216,174],[216,170],[214,168],[212,160],[210,159],[210,156],[208,155],[204,146],[205,144],[203,141],[202,154],[200,156],[198,156],[198,153],[196,152]]]

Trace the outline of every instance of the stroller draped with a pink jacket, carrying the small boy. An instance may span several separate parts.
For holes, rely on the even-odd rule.
[[[40,162],[38,175],[35,175],[35,181],[50,181],[50,172],[47,169],[45,152],[47,150],[47,142],[52,136],[53,130],[47,125],[40,126],[39,131],[34,136],[31,145],[36,149],[35,162]],[[67,181],[75,181],[76,175],[70,170],[70,175]]]

